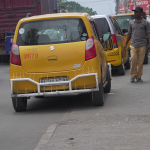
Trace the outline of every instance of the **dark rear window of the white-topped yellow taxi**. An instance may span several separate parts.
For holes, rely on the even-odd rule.
[[[103,37],[104,34],[110,33],[110,27],[106,18],[95,18],[94,20],[97,24],[100,38]]]

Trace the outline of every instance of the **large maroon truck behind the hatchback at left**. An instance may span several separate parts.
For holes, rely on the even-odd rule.
[[[18,21],[30,15],[53,13],[57,0],[1,0],[0,1],[0,62],[8,62]]]

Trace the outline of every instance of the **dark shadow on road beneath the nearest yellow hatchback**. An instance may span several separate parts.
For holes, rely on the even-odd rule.
[[[107,94],[105,94],[107,99]],[[64,112],[66,110],[85,110],[101,107],[94,107],[92,105],[91,94],[78,95],[78,96],[65,96],[53,98],[32,98],[28,100],[27,112]]]

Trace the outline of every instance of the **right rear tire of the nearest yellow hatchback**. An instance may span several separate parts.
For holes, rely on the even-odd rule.
[[[103,89],[103,80],[99,84],[99,91],[92,93],[92,102],[94,106],[103,106],[104,105],[104,89]]]

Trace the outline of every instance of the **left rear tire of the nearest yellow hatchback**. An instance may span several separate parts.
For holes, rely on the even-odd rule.
[[[25,97],[12,98],[12,103],[13,103],[14,110],[16,112],[26,111],[26,109],[27,109],[27,98],[25,98]]]

